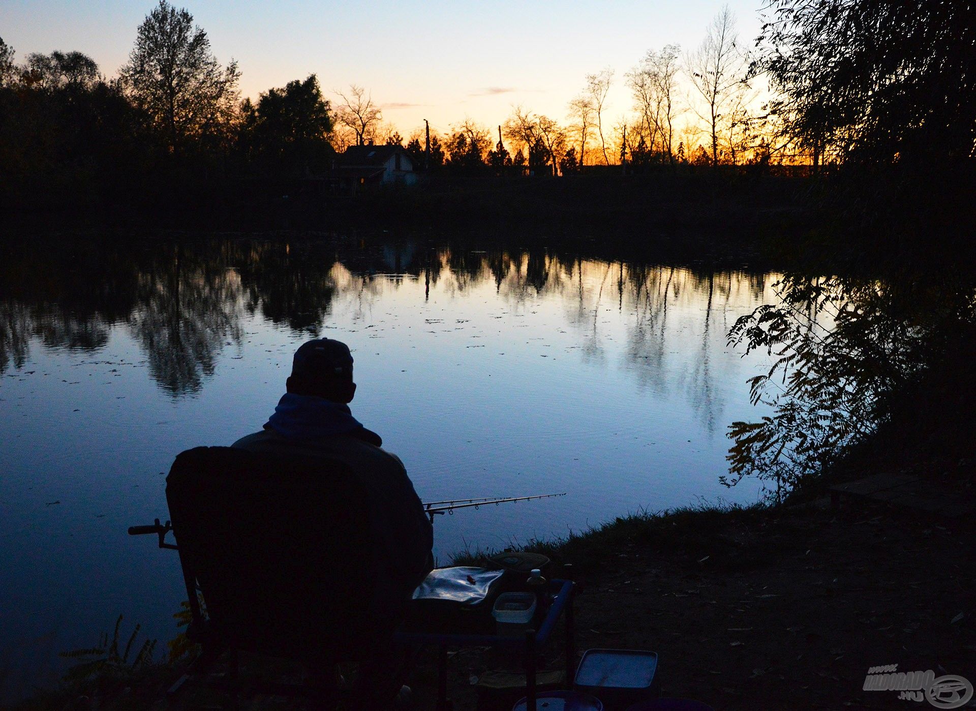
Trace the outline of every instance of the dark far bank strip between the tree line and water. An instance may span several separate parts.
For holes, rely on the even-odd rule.
[[[433,175],[415,188],[370,188],[355,195],[302,181],[227,183],[162,201],[144,195],[118,204],[12,210],[0,219],[0,234],[463,230],[479,238],[504,232],[594,238],[625,247],[649,242],[666,249],[676,235],[678,241],[694,240],[687,250],[693,254],[715,244],[739,255],[762,251],[771,236],[806,229],[811,217],[804,204],[814,185],[811,178],[747,168],[716,172],[691,166],[555,179]]]

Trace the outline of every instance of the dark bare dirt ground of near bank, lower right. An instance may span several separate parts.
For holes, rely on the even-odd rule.
[[[671,550],[631,542],[579,575],[577,652],[656,651],[663,695],[716,711],[917,707],[862,690],[865,676],[897,664],[976,683],[974,531],[971,519],[846,504],[730,521]],[[455,708],[506,707],[477,701],[476,680],[497,661],[452,657]],[[433,709],[429,662],[414,689],[417,708]]]

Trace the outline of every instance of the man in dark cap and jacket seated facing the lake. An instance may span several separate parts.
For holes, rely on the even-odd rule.
[[[382,547],[373,606],[396,619],[432,567],[433,529],[403,463],[381,449],[383,439],[349,410],[356,384],[346,344],[327,338],[303,344],[285,387],[264,430],[231,446],[321,455],[346,464],[368,492],[370,525]]]

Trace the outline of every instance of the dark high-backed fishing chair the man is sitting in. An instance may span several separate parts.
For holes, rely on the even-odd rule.
[[[370,659],[388,637],[392,622],[369,605],[376,541],[367,495],[345,465],[197,447],[177,457],[166,483],[192,615],[187,636],[202,648],[189,676],[228,652],[236,680],[240,651],[321,673]],[[151,531],[161,546],[168,525]],[[236,681],[230,686],[236,698]],[[253,689],[315,693],[295,685]]]

